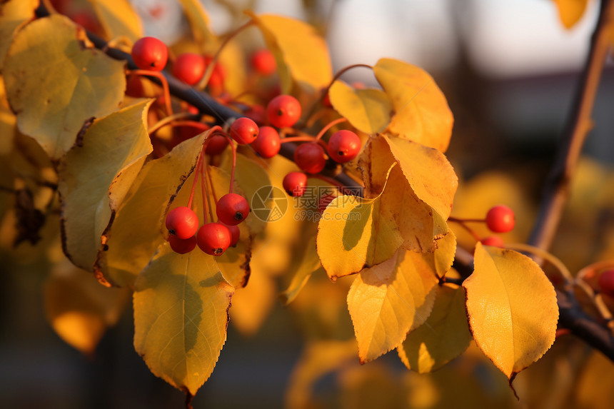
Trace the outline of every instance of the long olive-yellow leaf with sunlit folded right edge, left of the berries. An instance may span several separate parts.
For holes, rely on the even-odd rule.
[[[64,251],[76,266],[94,268],[101,236],[151,152],[146,128],[151,101],[94,121],[83,146],[74,146],[59,163]]]

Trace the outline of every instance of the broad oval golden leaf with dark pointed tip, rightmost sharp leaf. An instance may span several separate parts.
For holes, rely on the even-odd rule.
[[[463,282],[473,339],[512,380],[553,344],[556,294],[539,266],[515,251],[477,243],[474,262]]]

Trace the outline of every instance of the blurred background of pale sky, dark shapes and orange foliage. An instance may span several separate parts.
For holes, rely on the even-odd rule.
[[[144,21],[146,35],[171,44],[186,34],[187,22],[176,1],[131,3]],[[86,1],[79,4],[89,6]],[[518,228],[506,239],[526,240],[588,53],[598,1],[588,1],[572,29],[563,27],[555,2],[549,0],[206,0],[203,4],[216,34],[238,26],[246,8],[315,24],[328,41],[334,71],[351,64],[376,64],[381,57],[426,69],[455,116],[446,153],[461,179],[453,215],[479,216],[493,204],[507,203],[519,216]],[[353,70],[343,79],[376,86],[366,69]],[[595,126],[574,181],[575,196],[553,247],[573,273],[597,259],[614,257],[611,56],[593,119]],[[45,229],[57,233],[58,226]],[[462,235],[459,240],[470,243]],[[14,250],[7,246],[0,250],[0,407],[183,407],[183,393],[151,375],[135,353],[129,302],[119,323],[102,335],[91,356],[82,355],[54,333],[44,312],[50,265],[29,247],[22,243]],[[252,320],[251,325],[236,326],[231,315],[220,361],[196,395],[194,408],[611,407],[613,400],[604,401],[605,397],[599,396],[597,403],[583,400],[595,395],[588,385],[596,380],[612,382],[614,370],[573,338],[562,338],[554,351],[518,376],[515,385],[523,400],[516,403],[503,375],[474,347],[448,365],[451,368],[426,378],[408,373],[394,352],[358,365],[355,345],[344,343],[353,334],[345,306],[350,281],[333,285],[326,277],[314,276],[296,302],[282,308],[275,299],[275,293],[283,290],[281,278],[262,279],[259,284],[258,278],[252,279],[253,286],[271,297],[254,301],[260,304],[253,315],[235,318]],[[326,370],[326,363],[309,360],[306,348],[340,348],[351,354],[338,353],[331,358],[338,363],[335,370]],[[587,365],[593,366],[589,370]],[[295,372],[302,378],[292,375],[296,368],[302,368]],[[609,378],[595,378],[593,368]],[[286,394],[288,385],[293,388],[291,396]],[[530,385],[543,390],[535,393]]]

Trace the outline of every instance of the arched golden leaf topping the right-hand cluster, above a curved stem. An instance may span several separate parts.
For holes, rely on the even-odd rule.
[[[445,152],[453,117],[433,78],[417,66],[394,59],[379,60],[373,72],[395,109],[387,131]]]

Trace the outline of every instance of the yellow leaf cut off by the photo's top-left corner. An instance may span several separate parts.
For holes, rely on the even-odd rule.
[[[34,19],[34,11],[38,6],[39,0],[9,0],[0,5],[0,72],[13,35]]]

